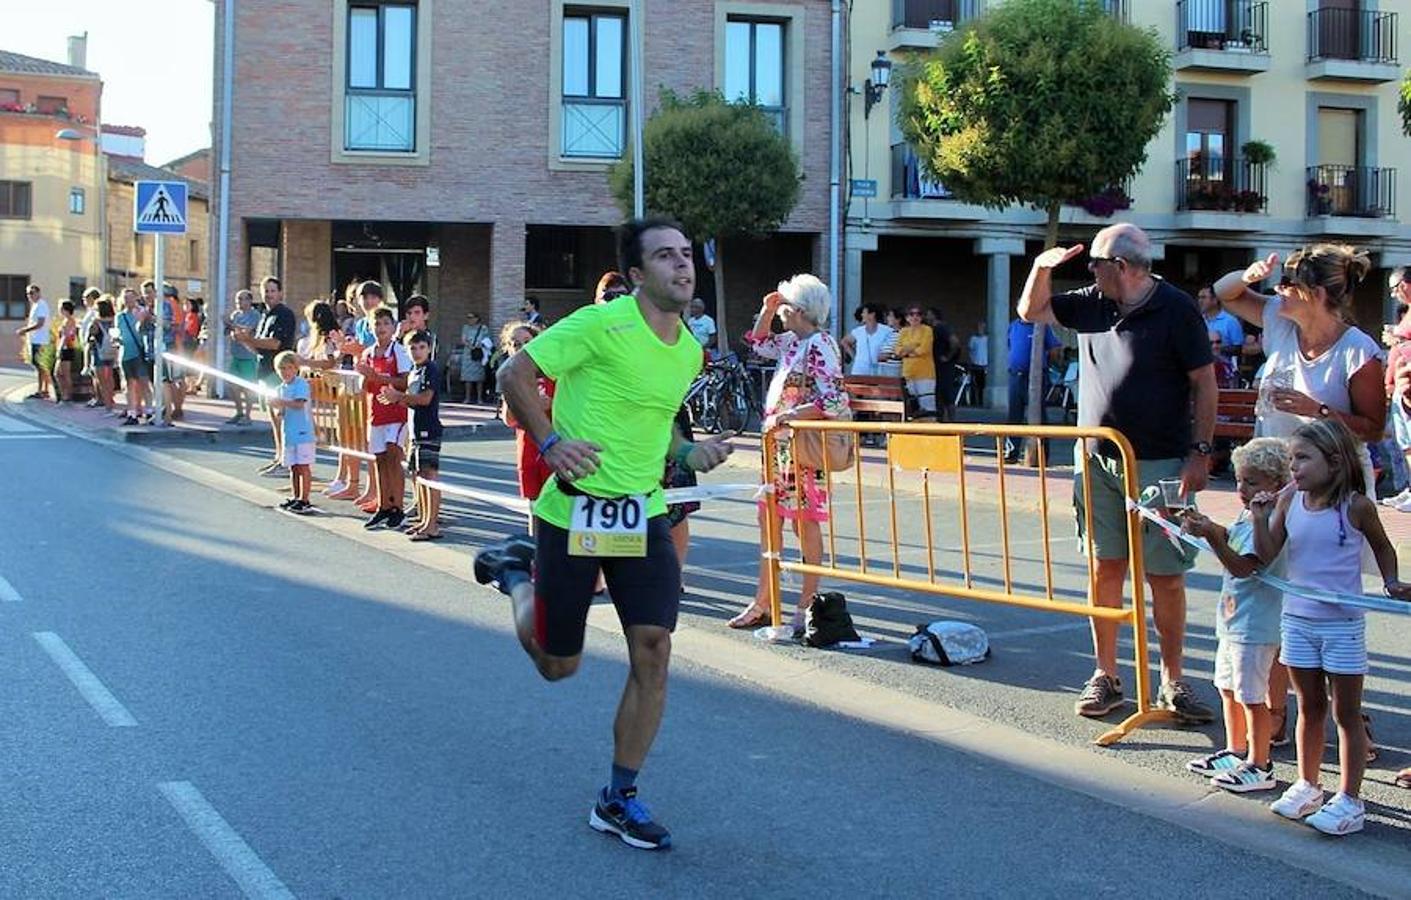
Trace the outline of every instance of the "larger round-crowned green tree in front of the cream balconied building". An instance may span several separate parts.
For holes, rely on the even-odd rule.
[[[1046,248],[1058,243],[1064,205],[1136,174],[1175,103],[1170,51],[1103,7],[1006,0],[896,78],[899,124],[927,176],[968,203],[1044,210]],[[1043,420],[1043,329],[1034,326],[1030,423]]]

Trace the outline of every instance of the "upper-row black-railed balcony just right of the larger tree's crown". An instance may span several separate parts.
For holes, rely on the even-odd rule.
[[[1264,0],[1177,0],[1173,65],[1208,72],[1266,72],[1267,24]]]

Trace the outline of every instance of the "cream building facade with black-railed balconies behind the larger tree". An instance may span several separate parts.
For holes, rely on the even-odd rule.
[[[995,4],[1000,0],[989,0]],[[892,59],[935,47],[985,0],[858,3],[849,28],[851,82],[862,85],[880,51]],[[1257,255],[1312,241],[1370,251],[1376,269],[1356,303],[1359,323],[1380,333],[1387,269],[1411,264],[1411,141],[1401,134],[1397,86],[1408,0],[1109,0],[1113,16],[1154,30],[1173,52],[1178,102],[1147,147],[1130,209],[1099,217],[1062,214],[1064,241],[1089,241],[1112,221],[1146,229],[1156,268],[1194,291]],[[854,172],[878,182],[852,197],[845,227],[845,303],[921,302],[945,310],[958,336],[981,320],[991,333],[991,401],[1006,384],[1003,334],[1043,217],[1000,213],[948,196],[928,182],[893,123],[888,90],[864,116],[849,109]],[[1263,141],[1274,152],[1261,161]]]

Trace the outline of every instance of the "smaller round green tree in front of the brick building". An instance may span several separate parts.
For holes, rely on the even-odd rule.
[[[665,89],[642,142],[646,209],[676,219],[693,240],[715,240],[717,341],[727,350],[725,238],[765,237],[793,212],[800,181],[793,147],[758,106]],[[608,174],[625,214],[632,213],[632,159],[625,155]]]

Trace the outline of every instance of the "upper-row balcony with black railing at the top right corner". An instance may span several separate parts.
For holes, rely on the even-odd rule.
[[[1397,14],[1321,7],[1308,13],[1308,78],[1393,82],[1397,62]]]

